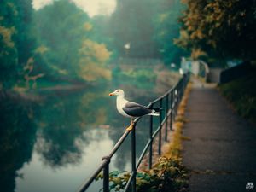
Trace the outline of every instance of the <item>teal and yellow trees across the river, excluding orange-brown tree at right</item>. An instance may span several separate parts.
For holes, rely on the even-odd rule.
[[[179,62],[184,52],[173,38],[179,32],[182,7],[177,0],[118,0],[112,15],[90,17],[68,0],[38,10],[32,8],[32,0],[3,0],[0,87],[108,81],[108,63],[120,57],[161,58],[167,65]]]

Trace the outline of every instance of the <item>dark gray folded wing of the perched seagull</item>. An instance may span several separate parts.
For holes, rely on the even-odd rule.
[[[152,109],[140,105],[136,102],[127,102],[123,110],[126,114],[132,117],[141,117],[143,115],[152,113]]]

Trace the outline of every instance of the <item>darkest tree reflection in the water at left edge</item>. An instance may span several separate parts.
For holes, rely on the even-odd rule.
[[[34,105],[2,98],[0,108],[0,185],[3,191],[12,192],[15,177],[22,177],[16,171],[32,158],[36,140]]]

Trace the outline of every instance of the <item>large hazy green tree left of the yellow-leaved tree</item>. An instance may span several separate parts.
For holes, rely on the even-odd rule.
[[[81,39],[90,31],[88,22],[88,15],[67,0],[55,1],[35,13],[38,45],[47,49],[43,55],[46,63],[40,65],[48,66],[47,73],[76,76]]]

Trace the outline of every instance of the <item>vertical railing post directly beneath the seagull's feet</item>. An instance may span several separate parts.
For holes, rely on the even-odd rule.
[[[131,191],[136,192],[136,124],[131,130],[131,173],[133,173],[133,178],[131,182]],[[131,174],[132,176],[132,174]]]

